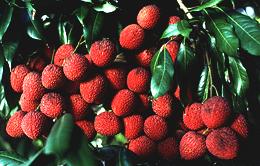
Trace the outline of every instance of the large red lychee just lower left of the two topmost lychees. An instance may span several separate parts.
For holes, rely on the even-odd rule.
[[[109,39],[94,42],[89,51],[92,62],[98,67],[111,64],[116,58],[116,46]]]

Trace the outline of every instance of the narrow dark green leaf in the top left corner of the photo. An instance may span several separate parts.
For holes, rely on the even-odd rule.
[[[15,3],[15,0],[11,0],[10,3]],[[0,42],[2,41],[4,34],[11,23],[13,11],[14,11],[14,7],[8,5],[5,8],[3,15],[0,17],[1,18],[0,19]]]

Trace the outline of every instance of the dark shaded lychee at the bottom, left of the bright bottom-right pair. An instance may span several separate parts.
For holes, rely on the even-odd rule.
[[[179,153],[179,146],[174,137],[168,137],[157,145],[159,155],[165,160],[174,160]]]

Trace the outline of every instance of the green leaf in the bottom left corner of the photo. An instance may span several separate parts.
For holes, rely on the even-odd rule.
[[[23,164],[25,159],[13,152],[0,152],[0,165],[17,166]]]

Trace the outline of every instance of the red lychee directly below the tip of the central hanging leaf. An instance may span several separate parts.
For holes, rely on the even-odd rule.
[[[153,111],[164,118],[170,117],[173,110],[173,97],[169,94],[158,97],[152,101]]]

